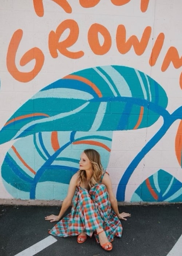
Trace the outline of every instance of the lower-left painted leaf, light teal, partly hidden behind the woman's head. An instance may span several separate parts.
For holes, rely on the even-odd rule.
[[[106,168],[112,132],[39,132],[17,140],[8,150],[1,176],[20,199],[64,199],[85,148],[98,150]],[[61,185],[60,185],[61,184]]]

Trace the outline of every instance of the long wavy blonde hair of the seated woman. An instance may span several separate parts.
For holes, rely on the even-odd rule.
[[[88,183],[89,187],[91,188],[100,180],[103,172],[103,167],[100,162],[100,154],[95,149],[88,148],[85,149],[83,152],[87,155],[92,165],[93,174],[90,179],[90,182]],[[87,177],[85,170],[79,170],[78,185],[80,185],[80,183],[85,184],[86,179]]]

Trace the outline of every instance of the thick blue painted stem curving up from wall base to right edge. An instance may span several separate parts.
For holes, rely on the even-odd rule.
[[[165,135],[170,126],[174,123],[174,121],[182,119],[182,107],[179,107],[169,116],[164,117],[163,125],[159,129],[157,133],[150,139],[150,141],[142,148],[142,150],[136,155],[136,157],[132,160],[130,165],[127,167],[124,172],[117,190],[117,199],[118,201],[125,200],[125,191],[128,181],[131,177],[131,174],[134,172],[135,168],[138,166],[139,162],[145,157],[145,155],[159,142],[159,140]]]

